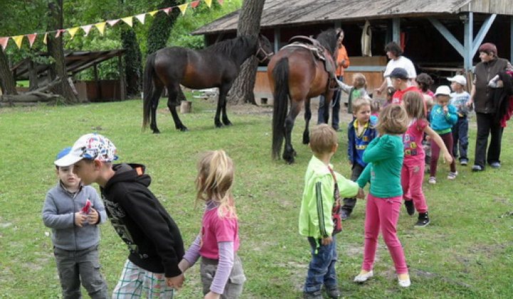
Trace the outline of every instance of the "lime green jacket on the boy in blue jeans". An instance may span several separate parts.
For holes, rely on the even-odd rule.
[[[331,169],[333,166],[330,164]],[[341,198],[358,194],[358,184],[335,172]],[[299,234],[326,238],[333,233],[331,209],[335,182],[328,167],[315,156],[306,169],[303,199],[299,212]]]

